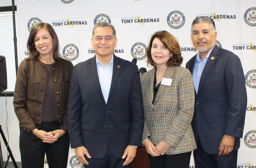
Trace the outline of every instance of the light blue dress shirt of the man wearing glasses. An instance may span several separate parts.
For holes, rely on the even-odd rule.
[[[97,72],[100,81],[100,87],[102,94],[104,96],[105,102],[108,101],[108,95],[110,91],[111,81],[112,81],[112,74],[113,74],[113,55],[110,59],[110,62],[106,67],[104,67],[98,60],[96,56],[96,65],[97,65]]]

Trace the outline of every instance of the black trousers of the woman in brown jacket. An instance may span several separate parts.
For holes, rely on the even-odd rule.
[[[37,129],[46,132],[60,129],[58,121],[36,124]],[[69,136],[65,133],[54,143],[45,143],[32,132],[20,132],[20,154],[22,168],[43,168],[46,153],[49,168],[66,168],[68,162]]]

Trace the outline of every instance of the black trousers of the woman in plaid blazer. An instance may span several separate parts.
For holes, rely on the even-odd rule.
[[[150,168],[188,168],[190,157],[191,152],[156,157],[148,154]]]

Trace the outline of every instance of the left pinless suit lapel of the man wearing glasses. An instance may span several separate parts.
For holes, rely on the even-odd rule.
[[[95,56],[91,59],[91,61],[89,62],[89,69],[90,69],[90,72],[91,72],[92,80],[93,80],[93,82],[94,82],[96,88],[98,89],[101,98],[102,98],[102,99],[104,100],[104,102],[105,102],[103,93],[102,93],[102,91],[101,91],[101,86],[100,86],[100,81],[99,81],[99,76],[98,76],[98,71],[97,71],[96,55],[95,55]]]

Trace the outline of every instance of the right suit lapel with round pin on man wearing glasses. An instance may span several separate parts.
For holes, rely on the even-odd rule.
[[[122,64],[121,61],[119,60],[118,57],[116,57],[115,55],[113,56],[113,73],[112,73],[112,80],[111,80],[111,86],[110,86],[110,90],[109,90],[109,94],[108,94],[108,100],[109,97],[115,87],[115,84],[119,78],[121,69],[122,69]]]

